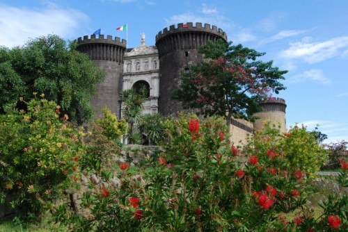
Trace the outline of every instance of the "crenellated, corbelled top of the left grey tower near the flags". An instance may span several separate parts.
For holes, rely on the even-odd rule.
[[[87,53],[91,60],[112,60],[123,63],[127,40],[120,41],[120,38],[112,38],[111,35],[85,35],[84,38],[77,39],[77,49]]]

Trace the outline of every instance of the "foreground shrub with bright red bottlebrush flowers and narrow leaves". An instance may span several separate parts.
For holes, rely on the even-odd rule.
[[[81,197],[81,212],[58,206],[57,222],[72,231],[345,228],[345,195],[323,203],[324,213],[318,219],[308,213],[302,173],[298,167],[287,167],[285,151],[275,146],[275,139],[282,137],[276,131],[266,129],[240,149],[228,142],[228,136],[221,140],[221,131],[227,134],[221,118],[200,122],[194,115],[179,115],[164,127],[164,152],[148,157],[141,167],[120,163],[95,170],[102,182],[90,183]],[[342,170],[340,184],[347,185],[347,170]],[[283,216],[295,210],[299,212],[293,220]],[[331,215],[340,218],[339,226],[336,217],[329,219]]]

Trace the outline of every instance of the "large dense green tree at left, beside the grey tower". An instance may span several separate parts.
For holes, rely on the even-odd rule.
[[[79,124],[93,116],[90,97],[105,74],[76,42],[66,42],[57,35],[30,40],[22,47],[0,48],[0,113],[6,105],[25,109],[33,92],[45,94],[61,106],[61,112]]]

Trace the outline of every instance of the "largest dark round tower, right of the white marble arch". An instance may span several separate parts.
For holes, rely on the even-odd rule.
[[[226,33],[216,26],[201,23],[172,25],[156,35],[156,47],[159,53],[159,112],[164,115],[182,110],[180,102],[171,99],[173,91],[180,84],[180,76],[189,72],[189,68],[203,61],[198,47],[208,40],[223,39]]]

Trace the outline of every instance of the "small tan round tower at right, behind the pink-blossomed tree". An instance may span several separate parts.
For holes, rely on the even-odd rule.
[[[262,130],[264,128],[264,122],[270,122],[276,126],[280,126],[280,132],[284,133],[286,131],[286,119],[285,119],[285,100],[281,98],[271,97],[265,101],[259,102],[262,111],[255,113],[256,117],[259,119],[253,122],[255,130]]]

